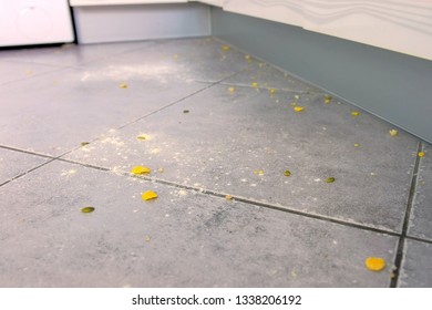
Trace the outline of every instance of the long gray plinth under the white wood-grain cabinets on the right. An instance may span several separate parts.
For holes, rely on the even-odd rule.
[[[432,142],[432,61],[217,8],[212,27],[215,37]]]

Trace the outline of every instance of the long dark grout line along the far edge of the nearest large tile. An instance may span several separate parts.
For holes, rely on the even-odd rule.
[[[61,161],[61,162],[70,163],[70,164],[84,166],[84,167],[88,167],[88,168],[93,168],[93,169],[99,169],[99,170],[103,170],[103,172],[114,173],[112,169],[106,168],[106,167],[100,167],[100,166],[85,164],[85,163],[81,163],[81,162],[76,162],[76,161],[72,161],[72,159],[65,159],[65,158],[56,158],[56,159]],[[134,176],[134,175],[131,175],[130,173],[126,173],[126,172],[121,172],[121,173],[116,172],[114,174],[121,175],[121,176],[125,176],[125,177],[134,177],[134,178],[138,178],[138,179],[144,179],[144,180],[147,180],[147,182],[162,184],[162,185],[167,185],[167,186],[171,186],[171,187],[194,190],[196,193],[200,193],[200,194],[213,196],[213,197],[225,198],[227,196],[227,194],[224,194],[224,193],[220,193],[220,192],[216,192],[216,190],[213,190],[213,189],[199,188],[199,187],[195,187],[195,186],[191,186],[191,185],[178,184],[178,183],[175,183],[175,182],[161,179],[161,178],[157,178],[157,177]],[[387,229],[374,228],[374,227],[370,227],[370,226],[367,226],[367,225],[350,223],[350,221],[346,221],[346,220],[342,220],[342,219],[328,217],[328,216],[322,216],[322,215],[318,215],[318,214],[309,214],[309,213],[306,213],[306,211],[296,210],[296,209],[292,209],[292,208],[282,207],[282,206],[274,205],[274,204],[269,204],[269,203],[263,203],[263,202],[258,202],[258,200],[254,200],[254,199],[250,199],[250,198],[236,196],[236,195],[232,195],[232,194],[229,194],[229,195],[233,197],[233,200],[240,202],[240,203],[244,203],[244,204],[247,204],[247,205],[259,206],[259,207],[264,207],[266,209],[272,209],[272,210],[282,211],[282,213],[287,213],[287,214],[294,214],[294,215],[304,216],[304,217],[307,217],[307,218],[318,219],[318,220],[321,220],[321,221],[333,223],[333,224],[338,224],[338,225],[342,225],[342,226],[347,226],[347,227],[351,227],[351,228],[358,228],[358,229],[361,229],[361,230],[368,230],[368,231],[372,231],[372,232],[384,234],[384,235],[395,236],[395,237],[400,236],[400,234],[391,231],[391,230],[387,230]]]

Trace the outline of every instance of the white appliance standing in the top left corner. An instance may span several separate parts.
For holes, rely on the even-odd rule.
[[[68,0],[0,0],[0,46],[73,40]]]

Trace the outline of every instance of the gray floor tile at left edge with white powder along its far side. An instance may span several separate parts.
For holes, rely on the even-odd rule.
[[[126,79],[127,78],[127,79]],[[120,85],[127,80],[127,89]],[[206,84],[64,69],[0,86],[0,144],[60,155],[181,100]],[[24,90],[24,91],[23,91]]]

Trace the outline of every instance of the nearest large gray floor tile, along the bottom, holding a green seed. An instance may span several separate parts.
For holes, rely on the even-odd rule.
[[[0,190],[0,287],[387,287],[397,238],[54,162]],[[155,200],[141,193],[154,190]],[[92,206],[91,214],[80,211]]]

